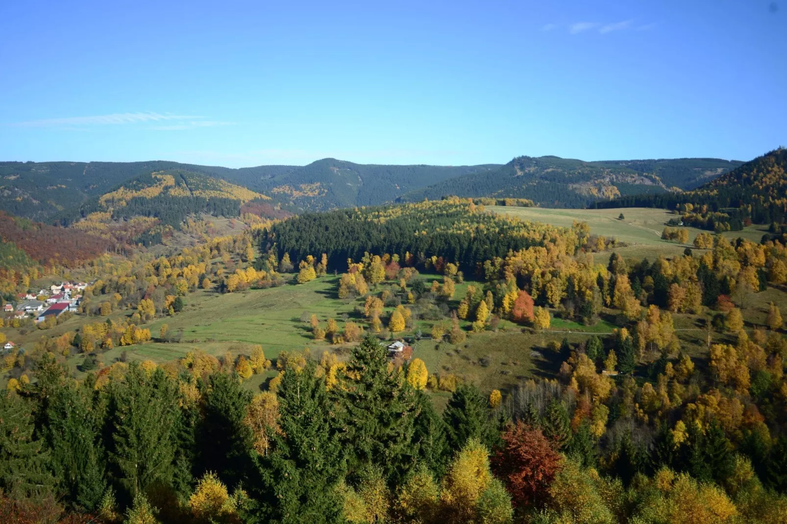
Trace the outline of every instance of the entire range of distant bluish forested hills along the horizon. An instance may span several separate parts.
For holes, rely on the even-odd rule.
[[[740,165],[707,158],[583,162],[518,157],[475,166],[353,164],[325,158],[305,166],[222,168],[170,161],[0,162],[0,210],[49,221],[68,216],[141,175],[182,170],[267,194],[291,212],[463,197],[524,197],[539,205],[582,207],[627,194],[693,189]]]

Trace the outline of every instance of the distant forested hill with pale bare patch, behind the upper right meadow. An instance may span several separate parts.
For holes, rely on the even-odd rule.
[[[626,194],[691,189],[729,172],[741,161],[715,158],[585,162],[560,157],[517,157],[501,168],[462,175],[403,195],[401,201],[460,197],[529,198],[546,207],[583,207]]]

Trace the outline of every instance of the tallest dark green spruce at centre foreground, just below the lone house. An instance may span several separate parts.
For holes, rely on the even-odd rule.
[[[368,335],[353,349],[336,391],[343,438],[353,449],[349,470],[375,464],[397,485],[416,459],[416,390],[401,370],[388,370],[386,349]]]

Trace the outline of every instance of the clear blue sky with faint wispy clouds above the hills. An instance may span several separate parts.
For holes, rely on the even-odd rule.
[[[749,160],[787,0],[0,2],[0,160]]]

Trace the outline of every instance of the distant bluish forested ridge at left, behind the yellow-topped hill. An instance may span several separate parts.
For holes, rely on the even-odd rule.
[[[0,162],[0,209],[35,220],[50,220],[127,180],[180,169],[270,194],[294,211],[321,211],[379,205],[443,179],[499,167],[500,164],[364,165],[332,158],[306,166],[264,165],[240,169],[170,161]]]

